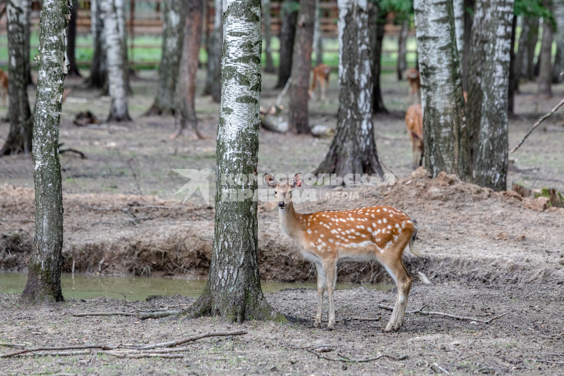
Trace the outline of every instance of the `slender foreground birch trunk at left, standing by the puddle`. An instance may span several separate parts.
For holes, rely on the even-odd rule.
[[[44,1],[39,25],[39,76],[33,132],[36,232],[21,298],[32,303],[61,302],[63,193],[59,163],[59,124],[63,82],[68,72],[67,0]]]

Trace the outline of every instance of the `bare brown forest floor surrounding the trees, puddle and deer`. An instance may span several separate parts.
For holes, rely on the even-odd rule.
[[[214,169],[218,104],[211,103],[209,97],[199,97],[196,102],[200,129],[209,139],[193,140],[186,135],[170,141],[172,117],[141,116],[152,103],[156,76],[154,72],[140,72],[140,76],[132,81],[132,122],[74,126],[76,113],[91,110],[104,120],[109,108],[108,98],[99,98],[80,87],[73,89],[63,106],[62,148],[78,149],[87,156],[82,160],[73,153],[61,154],[63,270],[70,271],[74,261],[78,272],[202,278],[208,272],[211,254],[213,208],[199,194],[181,205],[183,194],[173,193],[186,180],[171,169]],[[203,72],[198,77],[199,84],[203,84]],[[403,120],[407,84],[396,82],[391,74],[382,79],[390,114],[374,117],[376,141],[384,165],[395,173],[397,181],[390,187],[366,188],[360,206],[393,205],[421,224],[422,256],[406,254],[405,259],[412,275],[423,272],[432,284],[416,280],[408,309],[429,304],[432,311],[486,320],[509,312],[507,316],[483,325],[408,315],[402,331],[384,334],[381,327],[389,312],[377,308],[377,303],[392,304],[394,290],[339,290],[337,317],[382,316],[382,320],[340,323],[331,332],[312,329],[307,323],[251,321],[234,325],[197,319],[180,324],[167,320],[138,322],[133,317],[72,317],[70,313],[126,308],[122,300],[98,298],[85,302],[69,299],[36,309],[20,307],[15,295],[4,294],[0,316],[6,318],[6,324],[0,327],[0,342],[156,342],[227,327],[244,328],[248,334],[232,339],[202,339],[190,345],[193,351],[180,360],[89,355],[22,357],[0,361],[0,373],[319,375],[362,374],[370,370],[376,374],[434,374],[435,370],[441,372],[437,368],[441,366],[451,374],[564,374],[562,364],[534,361],[564,361],[564,326],[557,314],[564,300],[564,209],[547,208],[541,200],[523,200],[512,191],[492,192],[448,175],[430,179],[423,170],[413,172],[411,143]],[[312,102],[312,123],[336,124],[336,81],[333,76],[327,103]],[[67,80],[69,86],[78,83],[77,79]],[[274,76],[265,75],[263,88],[274,83]],[[534,93],[534,84],[522,85],[515,104],[517,116],[510,119],[510,147],[564,95],[564,85],[554,87],[555,97],[550,100],[537,99]],[[263,105],[274,103],[277,94],[263,90]],[[31,91],[30,96],[33,99]],[[0,110],[0,116],[5,112]],[[514,161],[509,186],[515,182],[564,191],[562,119],[557,113],[517,153],[510,154]],[[7,124],[0,123],[0,139],[5,139],[7,132]],[[312,171],[323,159],[331,139],[261,131],[260,141],[259,172],[295,173]],[[213,192],[213,182],[210,189]],[[353,206],[308,202],[297,209],[305,213]],[[33,242],[33,220],[30,156],[0,158],[0,271],[25,270]],[[314,269],[279,228],[277,209],[271,202],[259,202],[258,256],[263,280],[315,280]],[[377,263],[352,262],[340,265],[338,280],[390,281]],[[310,319],[315,311],[315,295],[314,290],[298,289],[267,294],[267,299],[282,313]],[[178,296],[161,297],[134,305],[148,309],[191,301]],[[306,350],[292,349],[310,345],[319,348],[324,344],[333,350],[320,355],[329,358],[341,353],[360,359],[376,356],[378,351],[408,357],[402,361],[380,359],[378,365],[345,363],[319,360]]]

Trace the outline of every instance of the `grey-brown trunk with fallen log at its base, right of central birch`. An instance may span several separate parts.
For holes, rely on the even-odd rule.
[[[299,2],[296,23],[296,43],[292,57],[292,86],[290,86],[290,107],[288,125],[297,134],[311,134],[307,103],[309,100],[311,52],[314,41],[315,2]]]

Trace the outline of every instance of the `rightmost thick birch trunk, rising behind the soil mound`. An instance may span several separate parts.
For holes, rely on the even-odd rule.
[[[509,60],[513,0],[478,0],[472,28],[467,125],[474,182],[507,187]]]

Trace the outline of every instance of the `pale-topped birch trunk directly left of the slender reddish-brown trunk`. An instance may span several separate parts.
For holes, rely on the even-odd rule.
[[[162,24],[162,58],[158,66],[158,86],[155,102],[147,115],[174,114],[177,99],[177,81],[180,59],[184,43],[184,25],[186,24],[186,2],[169,0],[164,5],[164,23]]]

